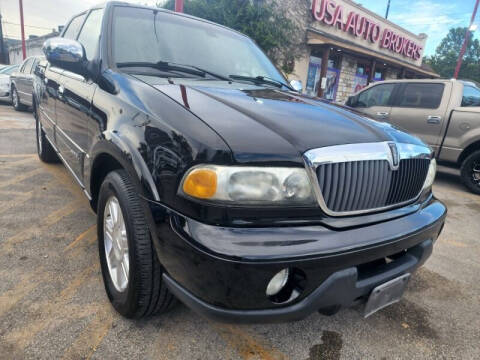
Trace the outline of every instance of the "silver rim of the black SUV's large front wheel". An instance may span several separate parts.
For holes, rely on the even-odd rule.
[[[117,291],[123,292],[128,286],[130,261],[127,228],[120,203],[115,196],[111,196],[105,205],[103,243],[112,283]]]

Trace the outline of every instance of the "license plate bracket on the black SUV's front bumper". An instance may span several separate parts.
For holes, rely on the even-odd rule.
[[[364,317],[369,317],[377,311],[400,301],[409,279],[410,274],[407,273],[373,289],[365,305]]]

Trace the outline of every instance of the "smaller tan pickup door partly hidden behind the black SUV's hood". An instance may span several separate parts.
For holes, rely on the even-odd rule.
[[[374,85],[359,93],[351,106],[375,120],[385,121],[390,115],[394,90],[394,83]]]

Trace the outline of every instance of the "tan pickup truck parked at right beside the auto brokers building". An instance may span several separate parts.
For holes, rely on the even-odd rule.
[[[460,167],[480,194],[480,89],[456,80],[394,80],[352,95],[347,105],[422,138],[437,161]]]

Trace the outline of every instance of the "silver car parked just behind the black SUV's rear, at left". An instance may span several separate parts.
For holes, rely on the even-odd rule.
[[[42,57],[26,58],[18,71],[10,75],[10,92],[12,105],[17,111],[26,110],[32,106],[33,72]]]

